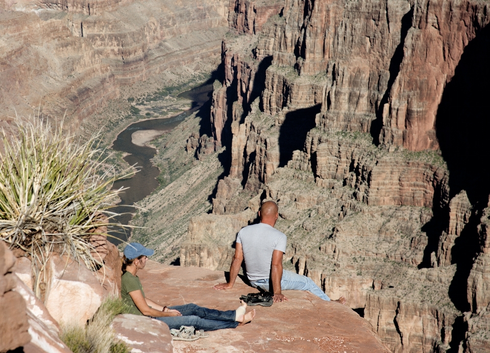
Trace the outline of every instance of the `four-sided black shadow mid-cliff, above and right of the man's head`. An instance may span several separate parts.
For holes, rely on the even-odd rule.
[[[302,150],[308,131],[315,127],[315,115],[320,113],[321,104],[286,114],[279,129],[279,167],[286,166],[292,152]]]

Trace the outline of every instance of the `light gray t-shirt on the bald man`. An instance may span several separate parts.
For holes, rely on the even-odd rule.
[[[269,278],[274,250],[286,252],[286,235],[265,223],[242,228],[236,242],[243,248],[247,276],[251,281]]]

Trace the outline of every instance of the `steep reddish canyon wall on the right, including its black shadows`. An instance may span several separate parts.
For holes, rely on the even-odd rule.
[[[191,220],[181,264],[226,270],[237,230],[272,199],[284,266],[345,295],[393,352],[490,350],[477,157],[490,133],[489,10],[231,0],[211,107],[229,173],[213,214]]]

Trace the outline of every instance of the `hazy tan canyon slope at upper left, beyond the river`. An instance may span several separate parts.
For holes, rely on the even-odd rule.
[[[121,86],[219,53],[228,2],[0,1],[0,120],[63,116],[76,130]]]

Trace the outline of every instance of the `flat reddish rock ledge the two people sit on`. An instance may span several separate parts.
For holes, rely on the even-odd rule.
[[[237,278],[231,290],[216,291],[225,273],[201,267],[165,266],[148,261],[138,272],[145,295],[162,305],[195,303],[236,309],[242,294],[257,292]],[[255,319],[234,329],[210,332],[197,341],[174,341],[178,353],[193,352],[388,352],[373,327],[352,309],[302,291],[284,291],[289,301],[250,307]]]

